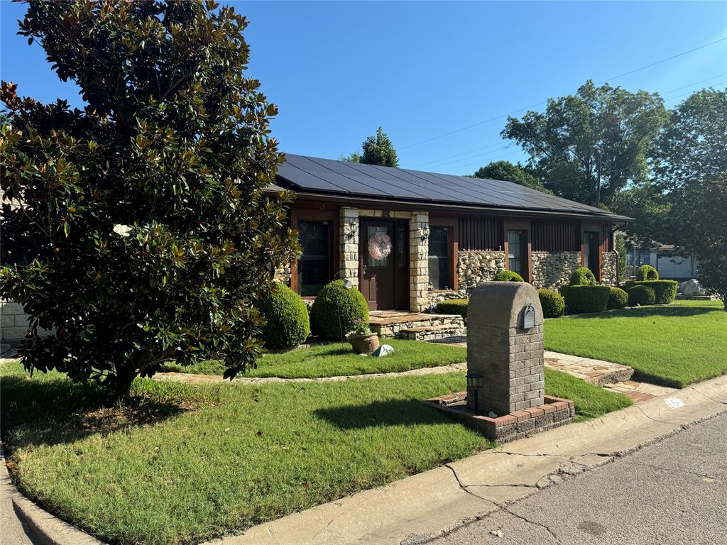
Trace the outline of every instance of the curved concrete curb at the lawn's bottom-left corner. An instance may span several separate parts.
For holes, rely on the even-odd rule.
[[[33,533],[33,541],[42,545],[105,545],[103,541],[54,517],[23,496],[12,484],[1,448],[0,462],[0,480],[4,481],[4,488],[10,492],[10,499],[17,518]]]

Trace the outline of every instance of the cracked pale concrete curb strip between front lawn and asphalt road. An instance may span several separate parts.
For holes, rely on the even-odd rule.
[[[723,412],[727,376],[209,543],[423,544]]]

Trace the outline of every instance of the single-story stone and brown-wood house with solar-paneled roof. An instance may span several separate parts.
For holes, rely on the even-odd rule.
[[[557,288],[585,265],[615,285],[613,233],[630,219],[513,182],[292,154],[281,189],[297,193],[303,252],[278,280],[313,298],[348,279],[371,310],[421,312],[503,269]]]

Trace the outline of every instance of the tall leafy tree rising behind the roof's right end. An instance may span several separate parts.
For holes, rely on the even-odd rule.
[[[601,206],[648,174],[648,153],[666,120],[657,94],[587,81],[549,99],[545,112],[507,119],[502,137],[529,153],[528,166],[556,195]]]

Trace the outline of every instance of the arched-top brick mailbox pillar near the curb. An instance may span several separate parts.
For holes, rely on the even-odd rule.
[[[524,282],[486,282],[467,306],[467,408],[497,416],[543,405],[543,313]]]

